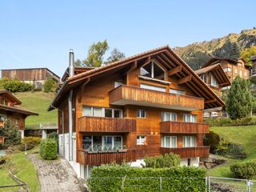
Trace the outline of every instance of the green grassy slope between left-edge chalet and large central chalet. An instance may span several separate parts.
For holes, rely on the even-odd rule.
[[[26,118],[26,126],[39,125],[40,122],[57,122],[57,111],[47,111],[50,102],[54,98],[54,93],[25,92],[15,94],[22,101],[22,107],[27,110],[37,112],[38,116],[29,116]]]

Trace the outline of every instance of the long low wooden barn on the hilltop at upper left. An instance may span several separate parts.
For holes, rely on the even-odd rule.
[[[53,78],[59,82],[59,77],[47,68],[10,69],[2,70],[2,78],[17,79],[22,82],[44,83],[47,78]]]

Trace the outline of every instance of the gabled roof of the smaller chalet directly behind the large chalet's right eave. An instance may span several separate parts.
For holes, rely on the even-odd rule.
[[[226,73],[224,72],[222,66],[219,63],[212,66],[203,67],[200,70],[195,70],[194,72],[198,75],[210,72],[214,75],[214,78],[217,79],[219,86],[224,87],[231,85],[230,79],[226,76]]]

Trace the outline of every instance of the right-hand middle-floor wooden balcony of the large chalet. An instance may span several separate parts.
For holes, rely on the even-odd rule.
[[[204,122],[160,122],[161,134],[206,134],[209,124]]]

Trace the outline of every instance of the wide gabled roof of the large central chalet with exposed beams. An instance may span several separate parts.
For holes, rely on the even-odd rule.
[[[154,61],[162,63],[166,66],[166,69],[169,71],[172,70],[172,72],[177,68],[181,69],[174,73],[178,78],[184,78],[191,75],[191,81],[186,82],[186,85],[189,86],[191,90],[194,90],[194,93],[197,94],[198,97],[205,98],[205,108],[224,106],[222,99],[218,98],[214,91],[194,73],[194,70],[192,70],[190,66],[188,66],[186,62],[174,52],[174,50],[171,50],[169,46],[162,46],[67,78],[66,82],[64,82],[62,87],[58,90],[58,94],[51,102],[48,110],[53,110],[54,107],[58,107],[62,98],[64,98],[66,93],[74,87],[82,85],[87,81],[94,81],[97,78],[102,78],[103,75],[113,74],[118,70],[129,70],[129,67],[133,67],[135,62],[145,62],[149,59],[154,59]]]

